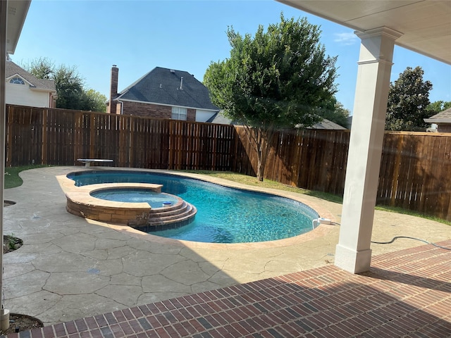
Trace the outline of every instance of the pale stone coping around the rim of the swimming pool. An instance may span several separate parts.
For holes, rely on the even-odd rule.
[[[120,232],[128,232],[132,237],[139,237],[140,239],[146,239],[149,242],[157,242],[161,244],[171,244],[171,245],[178,245],[178,246],[186,246],[191,249],[264,249],[264,248],[273,248],[273,247],[280,247],[280,246],[291,246],[294,244],[299,244],[302,242],[307,242],[311,239],[323,237],[325,234],[333,230],[333,228],[336,225],[333,225],[335,223],[335,218],[333,217],[333,214],[330,213],[326,208],[323,208],[323,206],[320,206],[319,204],[314,203],[314,201],[310,201],[308,199],[305,199],[302,194],[297,194],[295,192],[286,192],[283,190],[278,189],[271,189],[271,188],[264,188],[264,187],[254,187],[247,184],[241,184],[237,182],[232,182],[229,180],[224,180],[218,177],[210,177],[208,175],[202,175],[202,174],[194,174],[194,173],[183,173],[173,170],[158,170],[158,169],[143,169],[143,168],[121,168],[121,167],[98,167],[98,168],[84,168],[80,167],[80,170],[75,170],[76,172],[79,171],[144,171],[148,173],[161,173],[161,174],[167,174],[167,175],[176,175],[181,177],[188,177],[193,178],[194,180],[202,180],[205,182],[211,182],[214,184],[222,185],[224,187],[231,187],[236,189],[243,189],[243,190],[249,190],[252,192],[263,192],[266,194],[274,194],[276,196],[285,197],[288,199],[293,199],[295,201],[299,201],[302,204],[305,204],[309,208],[312,208],[316,213],[319,214],[319,217],[322,218],[328,218],[331,220],[331,225],[321,224],[318,227],[316,227],[314,230],[311,230],[309,232],[306,232],[304,234],[299,234],[295,237],[289,237],[286,239],[277,239],[275,241],[267,241],[267,242],[251,242],[251,243],[204,243],[204,242],[192,242],[192,241],[185,241],[182,239],[171,239],[166,237],[159,237],[155,236],[153,234],[147,234],[147,232],[142,232],[140,230],[134,229],[132,227],[129,227],[128,225],[123,225],[117,222],[111,222],[106,220],[88,220],[90,223],[96,223],[98,225],[104,225],[107,227],[111,227],[115,230],[118,230]],[[67,194],[78,192],[78,189],[81,187],[75,186],[75,181],[70,180],[70,178],[67,177],[67,175],[61,175],[56,177],[58,179],[58,182],[61,186],[61,189],[63,189],[63,192],[65,192],[66,196]],[[121,187],[123,187],[122,183]],[[144,183],[137,183],[137,184],[143,184]],[[97,184],[92,184],[97,185]],[[89,187],[89,186],[85,186]],[[92,196],[91,196],[92,197]],[[92,197],[93,198],[93,197]],[[118,202],[118,203],[126,203],[126,202]],[[98,222],[98,223],[97,223]],[[106,224],[103,224],[106,223]]]

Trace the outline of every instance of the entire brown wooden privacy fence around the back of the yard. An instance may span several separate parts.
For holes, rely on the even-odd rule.
[[[132,168],[257,171],[240,127],[9,105],[6,112],[6,166],[111,158]],[[338,130],[280,132],[265,178],[342,195],[349,138]],[[451,134],[386,132],[378,204],[451,220],[450,154]]]

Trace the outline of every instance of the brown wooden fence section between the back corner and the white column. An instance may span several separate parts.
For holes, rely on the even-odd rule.
[[[241,149],[251,168],[240,173],[257,171],[257,154],[252,150],[244,128],[237,128]],[[349,131],[288,130],[274,137],[266,162],[264,177],[294,187],[342,194],[345,186]]]

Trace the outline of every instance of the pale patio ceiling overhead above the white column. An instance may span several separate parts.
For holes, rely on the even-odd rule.
[[[388,27],[402,33],[398,46],[451,64],[449,0],[278,0],[352,30]]]

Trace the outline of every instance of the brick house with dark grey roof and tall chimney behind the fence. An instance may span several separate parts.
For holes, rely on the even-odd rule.
[[[204,84],[183,70],[156,67],[122,92],[118,73],[113,65],[107,113],[206,122],[219,111]]]

